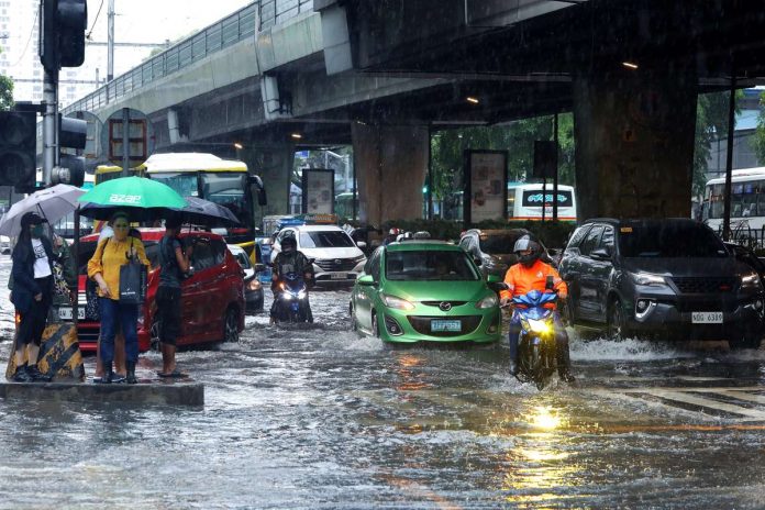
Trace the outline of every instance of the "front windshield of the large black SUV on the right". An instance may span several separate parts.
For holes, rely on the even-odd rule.
[[[725,257],[722,241],[709,229],[695,224],[632,225],[619,229],[623,257]]]

